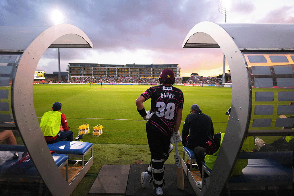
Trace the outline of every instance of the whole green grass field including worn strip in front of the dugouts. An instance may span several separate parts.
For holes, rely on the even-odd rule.
[[[203,113],[211,116],[215,133],[225,131],[228,122],[225,112],[231,106],[232,88],[175,87],[180,88],[184,93],[182,121],[190,113],[191,105],[196,103]],[[103,85],[102,87],[100,85],[91,87],[88,85],[34,85],[33,88],[37,117],[42,117],[45,112],[51,110],[54,102],[59,101],[62,103],[61,112],[66,115],[74,136],[78,135],[79,125],[85,123],[90,125],[90,133],[83,135],[83,141],[94,143],[94,164],[71,196],[88,195],[102,165],[148,164],[150,162],[145,130],[146,121],[142,120],[138,114],[135,104],[136,98],[149,88],[149,85]],[[273,91],[276,94],[278,90],[273,89]],[[144,102],[146,110],[150,109],[150,101]],[[38,120],[40,122],[41,118]],[[98,124],[103,125],[103,134],[93,137],[93,127]],[[183,123],[181,123],[180,132],[182,127]],[[262,137],[266,143],[276,138],[278,136]],[[181,145],[179,143],[179,146]],[[173,150],[166,164],[174,164],[174,153]],[[180,150],[179,153],[182,157],[183,151]]]

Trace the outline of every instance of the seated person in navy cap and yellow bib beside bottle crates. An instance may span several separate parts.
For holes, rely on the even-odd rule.
[[[74,141],[74,135],[69,126],[64,113],[61,113],[61,103],[55,102],[52,111],[44,113],[41,119],[41,130],[47,144],[53,144],[62,140]],[[60,125],[63,131],[60,131]]]

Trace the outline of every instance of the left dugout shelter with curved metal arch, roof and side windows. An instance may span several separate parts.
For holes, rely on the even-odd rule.
[[[25,146],[52,195],[70,195],[86,171],[68,183],[54,162],[34,108],[33,76],[47,48],[93,48],[93,44],[81,29],[70,24],[1,26],[0,37],[0,129],[14,131],[17,145]],[[0,151],[9,150],[3,146],[7,145],[0,145]],[[93,164],[93,157],[91,161]],[[0,171],[1,178],[12,181],[11,173],[2,172],[1,166]]]

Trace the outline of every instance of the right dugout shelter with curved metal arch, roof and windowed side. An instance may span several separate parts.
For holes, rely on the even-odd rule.
[[[294,25],[216,24],[205,21],[190,30],[183,41],[183,48],[221,48],[230,67],[232,105],[223,143],[204,187],[199,189],[194,185],[198,196],[220,195],[224,187],[228,187],[230,172],[240,155],[245,137],[266,140],[294,135],[294,118],[289,118],[294,115],[294,105],[289,105],[294,101]],[[281,118],[280,115],[288,118]],[[291,157],[270,152],[268,156],[260,155],[258,159],[275,159],[281,164],[287,159],[290,170],[266,176],[266,166],[256,164],[251,170],[253,177],[251,175],[243,186],[264,185],[265,188],[273,186],[273,189],[279,189],[279,176],[288,175],[288,180],[283,183],[292,190],[293,151]],[[247,158],[250,160],[250,156]],[[191,176],[188,178],[191,184],[195,184]],[[238,184],[240,179],[236,179]]]

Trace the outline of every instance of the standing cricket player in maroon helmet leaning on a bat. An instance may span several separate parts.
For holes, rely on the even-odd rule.
[[[164,69],[159,76],[159,86],[148,88],[136,99],[139,114],[146,123],[147,139],[151,152],[151,163],[146,172],[141,173],[141,184],[153,179],[156,194],[162,195],[164,188],[164,167],[169,153],[173,150],[174,138],[182,141],[179,127],[184,103],[183,92],[173,87],[175,76],[171,69]],[[151,98],[151,110],[145,111],[143,102]]]

